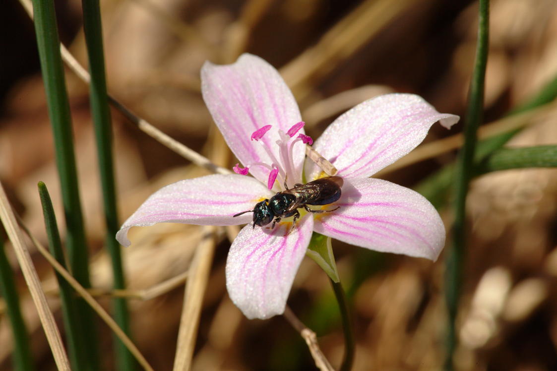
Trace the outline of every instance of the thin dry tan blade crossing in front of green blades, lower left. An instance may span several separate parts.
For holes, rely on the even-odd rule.
[[[100,318],[103,321],[105,321],[105,323],[110,327],[110,329],[114,331],[114,334],[116,336],[118,336],[118,338],[122,341],[122,343],[124,343],[124,345],[129,349],[130,353],[134,355],[135,359],[138,360],[141,367],[143,367],[146,370],[153,370],[153,368],[149,365],[149,363],[147,362],[145,357],[143,357],[143,354],[141,354],[141,352],[139,352],[139,349],[130,340],[130,338],[128,338],[128,335],[126,335],[124,333],[124,331],[122,331],[122,329],[120,329],[120,326],[118,326],[118,324],[116,324],[114,319],[108,313],[106,313],[106,311],[91,296],[91,294],[89,294],[89,292],[87,292],[87,290],[85,290],[84,287],[81,286],[79,284],[79,282],[77,282],[76,279],[74,279],[74,277],[72,275],[70,275],[70,273],[68,271],[66,271],[64,269],[64,267],[62,267],[60,265],[60,263],[58,263],[52,255],[50,255],[50,252],[48,252],[46,250],[46,248],[44,246],[42,246],[41,243],[39,241],[37,241],[37,239],[31,235],[31,233],[27,230],[27,228],[25,228],[25,227],[23,227],[23,228],[25,229],[29,238],[31,238],[31,241],[33,242],[33,245],[35,245],[35,247],[41,253],[41,255],[45,257],[45,259],[48,261],[48,263],[50,263],[50,265],[53,267],[53,269],[55,269],[56,272],[58,272],[62,277],[64,277],[64,279],[73,287],[73,289],[75,291],[77,291],[77,293],[85,301],[87,301],[87,303],[100,316]]]

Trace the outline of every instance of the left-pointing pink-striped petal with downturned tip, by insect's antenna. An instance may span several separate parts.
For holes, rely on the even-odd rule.
[[[263,184],[243,175],[207,175],[180,180],[153,193],[116,233],[121,245],[129,246],[131,227],[152,226],[155,223],[174,222],[211,226],[229,226],[249,223],[252,214],[232,217],[250,210],[262,198],[272,197]]]

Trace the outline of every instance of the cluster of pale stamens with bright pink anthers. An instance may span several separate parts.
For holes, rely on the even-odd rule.
[[[269,176],[267,179],[267,188],[272,189],[275,181],[279,180],[279,187],[283,187],[285,181],[287,182],[287,186],[289,188],[294,187],[295,183],[299,183],[301,179],[300,174],[296,172],[296,168],[294,165],[294,158],[292,156],[294,144],[298,141],[302,141],[302,143],[313,144],[313,140],[310,136],[304,134],[298,134],[296,138],[294,136],[300,131],[301,128],[304,127],[304,121],[300,121],[297,124],[292,125],[292,127],[285,133],[282,130],[278,130],[279,139],[276,141],[278,145],[278,158],[275,156],[271,148],[264,142],[260,141],[263,138],[263,135],[269,131],[272,126],[265,125],[260,129],[251,134],[251,140],[257,141],[260,144],[265,152],[267,153],[271,164],[255,162],[248,164],[245,168],[241,168],[239,164],[233,167],[233,170],[237,174],[246,175],[250,167],[252,166],[262,166],[269,170]]]

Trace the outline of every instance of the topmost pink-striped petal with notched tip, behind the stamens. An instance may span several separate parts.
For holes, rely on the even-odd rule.
[[[278,129],[286,133],[301,121],[301,115],[292,92],[275,67],[260,57],[243,54],[232,65],[206,62],[201,69],[201,81],[207,108],[240,162],[244,166],[272,163],[261,145],[250,140],[252,133],[265,125],[272,125],[272,129],[260,141],[278,159]],[[294,164],[301,171],[304,145],[296,143],[295,146]],[[250,168],[250,173],[266,182],[269,171],[255,166]]]

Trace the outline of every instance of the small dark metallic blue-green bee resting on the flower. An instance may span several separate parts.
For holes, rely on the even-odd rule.
[[[253,228],[256,225],[266,226],[271,221],[271,228],[274,228],[281,218],[294,216],[292,223],[295,225],[296,219],[300,217],[298,211],[300,207],[311,213],[331,212],[338,209],[337,207],[332,210],[313,210],[308,205],[328,205],[338,201],[343,184],[344,180],[341,177],[326,177],[306,184],[297,183],[291,189],[288,189],[285,184],[286,191],[278,192],[270,200],[258,202],[253,210],[243,211],[234,217],[253,212]]]

